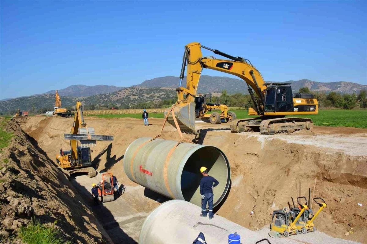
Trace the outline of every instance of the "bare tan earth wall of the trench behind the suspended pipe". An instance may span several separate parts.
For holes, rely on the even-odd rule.
[[[88,126],[95,128],[96,134],[115,136],[112,144],[98,142],[97,147],[93,148],[92,157],[96,162],[100,161],[98,172],[113,172],[128,187],[123,197],[135,209],[146,213],[153,210],[159,203],[149,198],[145,192],[143,194],[141,188],[134,190],[137,184],[131,182],[123,172],[123,154],[135,139],[159,134],[163,120],[149,119],[153,124],[149,127],[143,126],[142,120],[138,119],[86,117],[85,120]],[[20,118],[19,123],[52,160],[61,147],[68,149],[69,142],[63,140],[63,133],[70,130],[72,119],[29,117]],[[360,156],[350,156],[337,148],[331,150],[302,144],[302,138],[299,139],[299,136],[312,140],[319,134],[333,135],[334,128],[315,127],[306,134],[286,135],[296,142],[288,143],[283,139],[254,134],[229,133],[226,124],[200,123],[200,127],[214,129],[203,129],[195,141],[217,146],[224,151],[232,171],[232,188],[217,214],[244,227],[260,229],[270,224],[273,210],[287,206],[291,196],[296,197],[299,180],[302,182],[301,195],[308,197],[308,188],[313,187],[317,177],[315,197],[322,196],[327,203],[327,208],[316,219],[317,228],[334,237],[366,243],[367,152]],[[164,138],[170,140],[177,140],[177,134],[169,125],[163,132]],[[335,138],[344,136],[353,140],[356,137],[366,137],[367,130],[338,128],[337,134]],[[360,151],[363,150],[366,151],[366,148],[360,148]],[[316,211],[318,206],[314,203],[312,208]],[[251,211],[254,214],[250,215]],[[345,236],[348,230],[354,233]]]

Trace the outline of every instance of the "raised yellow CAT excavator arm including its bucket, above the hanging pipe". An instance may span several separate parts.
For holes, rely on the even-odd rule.
[[[215,54],[227,57],[230,60],[215,59],[214,57],[203,57],[201,48],[208,49]],[[186,87],[182,86],[186,70]],[[195,96],[199,85],[200,75],[203,68],[225,72],[236,75],[243,79],[248,86],[251,99],[255,104],[258,115],[263,115],[264,97],[266,86],[260,72],[242,57],[234,57],[218,50],[210,49],[192,42],[185,46],[185,53],[182,59],[179,87],[176,89],[178,101],[174,104],[174,115],[177,118],[181,131],[195,133]],[[257,94],[257,98],[254,92]],[[165,113],[167,115],[168,112]],[[168,123],[177,128],[172,116],[168,116]]]

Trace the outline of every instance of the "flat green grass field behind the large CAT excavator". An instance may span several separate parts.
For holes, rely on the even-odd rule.
[[[236,113],[237,119],[249,117],[247,110],[232,110]],[[141,119],[141,114],[116,114],[116,115],[93,115],[100,118],[136,118]],[[149,113],[150,118],[163,118],[163,113]],[[312,119],[315,125],[323,126],[345,126],[367,129],[367,110],[345,110],[345,109],[330,109],[319,110],[318,115],[299,115],[295,117],[303,117]]]

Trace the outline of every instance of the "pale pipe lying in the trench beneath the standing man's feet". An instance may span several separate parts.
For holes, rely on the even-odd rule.
[[[209,220],[208,217],[200,217],[200,212],[200,207],[182,200],[161,204],[145,219],[139,244],[192,243],[200,232],[203,232],[206,243],[228,243],[228,235],[235,232],[241,236],[241,243],[269,238],[269,232],[257,233],[218,215]],[[271,242],[294,243],[284,238],[272,239]]]

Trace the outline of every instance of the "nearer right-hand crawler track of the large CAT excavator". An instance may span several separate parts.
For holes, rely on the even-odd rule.
[[[266,135],[291,134],[301,129],[310,129],[312,120],[308,118],[278,118],[261,121],[260,133]]]

